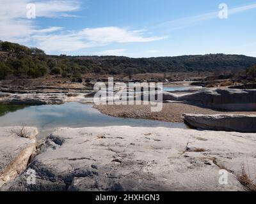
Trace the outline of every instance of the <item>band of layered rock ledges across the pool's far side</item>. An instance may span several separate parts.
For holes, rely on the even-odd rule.
[[[60,104],[67,101],[87,103],[93,102],[93,96],[100,99],[97,101],[105,102],[110,100],[115,102],[127,101],[131,98],[155,100],[161,99],[162,92],[113,92],[114,96],[106,96],[106,91],[90,93],[44,93],[44,94],[0,94],[0,102],[20,103],[32,105]],[[156,96],[156,94],[158,94]],[[122,96],[122,97],[121,97]],[[202,89],[189,94],[173,94],[163,92],[163,101],[180,101],[192,105],[204,106],[206,108],[215,108],[219,110],[230,111],[255,111],[256,110],[256,89]],[[158,101],[161,102],[161,101]]]

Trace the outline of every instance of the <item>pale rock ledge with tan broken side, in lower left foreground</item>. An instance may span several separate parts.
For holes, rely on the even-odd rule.
[[[23,128],[26,138],[19,136],[21,129],[0,128],[0,187],[22,173],[35,153],[37,129]]]

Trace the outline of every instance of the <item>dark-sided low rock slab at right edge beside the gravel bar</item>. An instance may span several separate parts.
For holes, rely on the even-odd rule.
[[[193,115],[185,114],[184,121],[193,128],[256,133],[256,115]]]

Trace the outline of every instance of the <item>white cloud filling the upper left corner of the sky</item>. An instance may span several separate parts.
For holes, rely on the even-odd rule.
[[[39,29],[35,19],[26,18],[28,3],[36,4],[36,17],[64,17],[68,12],[79,9],[78,1],[0,0],[0,40],[24,43],[29,42],[35,33],[51,33],[61,29]]]

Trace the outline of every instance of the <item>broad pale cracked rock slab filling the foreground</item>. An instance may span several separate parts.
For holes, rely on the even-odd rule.
[[[241,163],[256,164],[256,136],[169,128],[61,128],[52,133],[11,191],[244,191]],[[220,168],[228,184],[219,183]],[[249,170],[249,169],[248,169]]]

